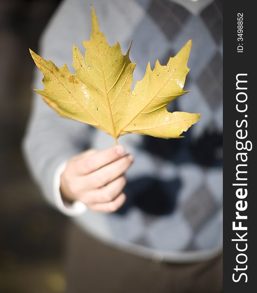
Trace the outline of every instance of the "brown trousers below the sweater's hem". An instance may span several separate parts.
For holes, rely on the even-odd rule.
[[[190,263],[154,263],[107,246],[74,224],[67,233],[68,293],[221,293],[222,255]]]

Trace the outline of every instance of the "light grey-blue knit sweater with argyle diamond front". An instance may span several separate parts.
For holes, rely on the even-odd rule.
[[[134,80],[140,80],[148,61],[152,66],[156,59],[164,64],[193,39],[185,86],[191,92],[169,110],[200,112],[201,119],[179,140],[136,134],[119,139],[135,157],[121,209],[101,214],[81,206],[61,207],[60,166],[88,147],[111,147],[113,140],[90,126],[59,118],[36,93],[23,150],[47,200],[75,215],[83,229],[141,256],[190,262],[210,258],[222,248],[222,1],[207,1],[206,7],[191,11],[188,0],[181,1],[183,6],[175,2],[64,0],[40,41],[44,59],[57,66],[67,63],[74,71],[71,49],[77,44],[84,52],[92,3],[111,45],[119,41],[124,53],[134,38],[130,56],[137,63]],[[41,78],[36,69],[34,88],[42,89]]]

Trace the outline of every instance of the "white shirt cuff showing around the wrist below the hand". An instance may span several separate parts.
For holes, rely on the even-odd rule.
[[[56,207],[65,215],[67,216],[79,216],[83,214],[87,207],[79,200],[73,202],[72,204],[65,205],[63,199],[60,194],[60,176],[64,171],[67,162],[61,163],[55,170],[54,173],[54,181],[53,181],[53,188],[54,188],[54,203]]]

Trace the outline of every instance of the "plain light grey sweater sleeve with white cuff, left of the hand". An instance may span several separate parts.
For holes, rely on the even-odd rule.
[[[80,0],[64,0],[49,21],[41,39],[39,54],[57,66],[67,63],[72,71],[72,46],[90,36],[90,6]],[[88,4],[88,5],[85,5]],[[82,5],[82,6],[81,6]],[[85,7],[86,6],[86,7]],[[88,6],[88,7],[87,7]],[[33,49],[33,48],[32,48]],[[42,89],[42,74],[35,68],[32,87]],[[91,129],[77,121],[60,118],[33,93],[32,109],[22,141],[22,151],[28,168],[47,201],[68,215],[77,215],[86,208],[75,202],[65,207],[59,192],[59,177],[63,162],[90,145]]]

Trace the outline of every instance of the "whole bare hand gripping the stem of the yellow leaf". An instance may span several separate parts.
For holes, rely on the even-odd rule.
[[[124,172],[133,161],[123,146],[80,153],[68,161],[61,174],[62,197],[68,201],[79,200],[95,211],[116,211],[125,202]]]

